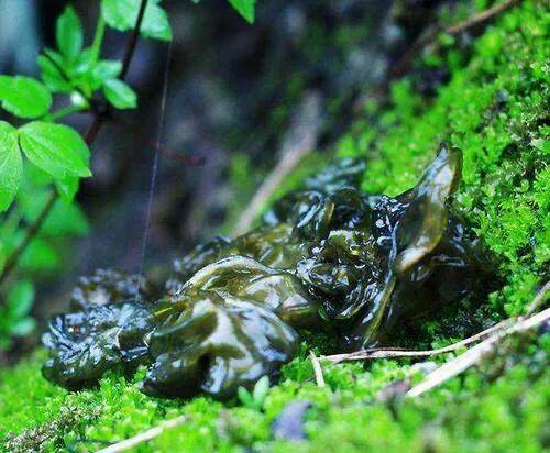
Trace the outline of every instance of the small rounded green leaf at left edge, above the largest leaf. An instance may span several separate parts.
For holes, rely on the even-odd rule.
[[[31,77],[0,76],[0,101],[2,107],[19,118],[37,118],[52,107],[52,95]]]

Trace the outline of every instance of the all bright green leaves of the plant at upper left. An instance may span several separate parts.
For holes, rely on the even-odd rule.
[[[0,75],[0,107],[10,119],[0,121],[0,213],[4,212],[0,219],[0,275],[8,256],[50,202],[52,186],[58,197],[18,262],[19,277],[33,278],[57,269],[65,240],[87,233],[86,218],[74,198],[80,178],[91,176],[90,151],[78,131],[59,121],[68,114],[92,111],[101,98],[116,109],[138,106],[136,93],[120,78],[122,64],[102,59],[101,47],[107,26],[128,31],[135,25],[140,3],[102,0],[89,46],[80,18],[67,7],[55,23],[56,48],[45,48],[37,57],[40,79]],[[148,2],[141,34],[172,38],[160,0]],[[59,104],[64,107],[57,109]],[[8,286],[2,292],[3,346],[10,344],[9,336],[29,333],[34,325],[26,317],[32,298],[23,297],[20,285],[32,288],[31,280],[15,279],[11,289]]]

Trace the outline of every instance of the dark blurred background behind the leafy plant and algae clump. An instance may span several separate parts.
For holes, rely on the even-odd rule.
[[[0,73],[37,76],[36,56],[54,46],[55,19],[69,3],[90,42],[98,1],[0,0]],[[65,308],[79,275],[140,269],[154,161],[145,139],[155,142],[160,132],[167,62],[162,143],[206,162],[190,167],[160,156],[145,267],[169,266],[198,242],[229,234],[293,141],[310,139],[298,172],[329,161],[365,97],[382,96],[376,88],[392,65],[441,8],[455,3],[469,2],[260,0],[250,25],[224,0],[164,1],[173,44],[140,41],[128,77],[139,108],[121,113],[127,125],[108,123],[95,142],[94,177],[78,194],[88,226],[58,241],[53,264],[33,272],[33,314],[43,320]],[[108,30],[103,57],[120,58],[124,41]],[[413,76],[417,89],[446,80],[441,69],[422,70]],[[68,122],[85,131],[90,118]]]

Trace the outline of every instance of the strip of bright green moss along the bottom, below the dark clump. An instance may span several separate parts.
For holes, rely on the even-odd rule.
[[[186,423],[164,431],[138,451],[172,451],[175,445],[197,452],[246,448],[287,451],[290,444],[274,441],[270,427],[286,404],[299,399],[314,404],[305,423],[309,441],[292,444],[300,452],[331,451],[334,440],[339,451],[509,451],[510,446],[514,451],[538,451],[550,422],[544,402],[550,372],[544,367],[546,356],[541,356],[550,347],[550,335],[521,342],[527,351],[520,360],[509,361],[505,374],[472,371],[422,398],[389,405],[375,404],[376,394],[388,383],[410,375],[409,365],[380,361],[366,371],[359,363],[324,365],[327,387],[319,388],[304,354],[284,369],[263,412],[204,397],[187,402],[147,398],[138,390],[135,380],[125,382],[117,375],[105,377],[96,390],[67,395],[40,377],[42,357],[37,354],[2,375],[3,401],[13,406],[2,405],[0,417],[10,423],[3,433],[28,429],[11,440],[12,450],[19,446],[19,451],[38,446],[58,451],[62,445],[94,450],[180,415],[188,416]],[[418,373],[413,376],[420,378]],[[28,391],[22,393],[14,380],[26,383]],[[41,390],[34,391],[35,386]],[[82,418],[58,422],[55,435],[36,443],[34,431],[29,430],[30,420],[47,427],[64,420],[67,408]]]

